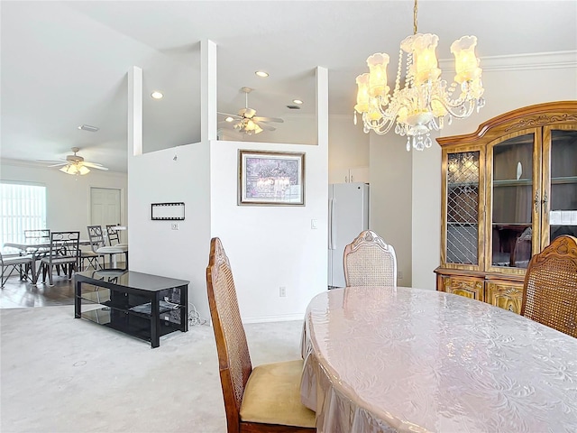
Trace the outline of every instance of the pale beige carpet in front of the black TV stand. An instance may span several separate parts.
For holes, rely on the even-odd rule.
[[[0,326],[3,433],[226,431],[211,327],[151,349],[73,306],[2,309]],[[298,358],[301,327],[246,325],[252,364]]]

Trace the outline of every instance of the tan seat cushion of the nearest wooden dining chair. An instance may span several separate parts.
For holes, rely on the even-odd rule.
[[[302,371],[302,360],[263,364],[252,369],[244,389],[241,419],[314,428],[315,412],[300,402]]]

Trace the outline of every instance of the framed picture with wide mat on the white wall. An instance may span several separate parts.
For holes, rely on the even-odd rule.
[[[238,204],[303,206],[305,153],[239,150]]]

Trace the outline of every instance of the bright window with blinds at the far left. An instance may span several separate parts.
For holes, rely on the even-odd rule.
[[[0,183],[0,240],[24,242],[24,230],[46,228],[46,187]]]

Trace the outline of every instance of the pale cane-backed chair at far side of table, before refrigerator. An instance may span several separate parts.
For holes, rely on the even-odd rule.
[[[344,247],[343,264],[347,287],[397,287],[395,249],[371,230],[361,232]]]

